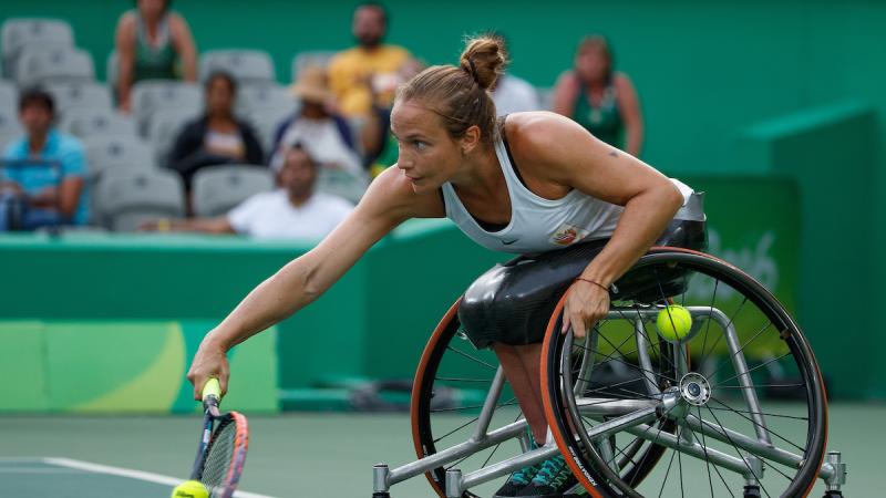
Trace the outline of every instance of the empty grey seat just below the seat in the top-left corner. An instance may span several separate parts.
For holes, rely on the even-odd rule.
[[[94,80],[92,55],[81,49],[27,49],[16,63],[16,81],[19,86],[49,85],[56,82],[85,83]]]

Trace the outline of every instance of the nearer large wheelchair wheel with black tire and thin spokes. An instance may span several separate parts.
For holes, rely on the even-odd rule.
[[[725,427],[756,438],[755,429],[761,424],[754,422],[750,408],[744,405],[738,407],[741,403],[745,403],[743,400],[733,400],[743,397],[734,393],[754,392],[760,401],[761,417],[767,427],[764,432],[769,434],[772,443],[802,458],[799,465],[792,466],[755,454],[754,456],[761,458],[765,466],[760,479],[762,496],[808,495],[824,457],[827,432],[826,398],[821,372],[812,350],[800,328],[779,301],[738,268],[700,252],[676,248],[661,248],[645,256],[617,282],[617,287],[619,293],[614,297],[614,309],[628,310],[622,313],[626,318],[635,317],[630,314],[630,310],[636,310],[638,315],[641,311],[652,313],[669,299],[673,299],[677,304],[699,307],[697,310],[717,308],[724,313],[720,322],[713,319],[713,312],[708,312],[707,317],[697,315],[698,329],[693,329],[693,333],[687,338],[684,347],[661,340],[655,325],[643,322],[640,335],[650,344],[650,356],[655,351],[661,351],[662,344],[670,349],[671,352],[666,354],[672,359],[678,359],[678,351],[686,351],[679,359],[686,360],[689,367],[679,371],[681,374],[686,371],[692,372],[692,375],[686,377],[688,381],[684,381],[683,386],[689,386],[686,382],[698,378],[696,376],[698,372],[701,372],[709,386],[707,391],[702,390],[708,393],[709,398],[693,400],[697,404],[683,402],[686,408],[683,415],[677,416],[670,412],[659,411],[657,418],[648,425],[653,430],[668,432],[668,427],[674,428],[670,424],[677,424],[681,416],[694,416],[710,423],[711,427]],[[646,452],[645,455],[663,456],[663,458],[651,474],[649,465],[642,460],[633,460],[628,465],[621,465],[624,459],[615,465],[611,459],[606,461],[598,450],[602,446],[599,440],[609,439],[591,440],[587,436],[587,430],[598,425],[600,421],[584,416],[577,407],[574,393],[575,375],[578,372],[576,365],[586,354],[589,359],[594,359],[595,365],[598,363],[604,365],[616,361],[614,359],[620,359],[618,361],[622,366],[632,370],[638,376],[643,375],[645,370],[637,361],[631,360],[631,354],[637,353],[637,346],[636,342],[631,344],[629,339],[637,335],[633,330],[626,333],[625,326],[617,324],[618,320],[612,320],[601,322],[595,328],[598,334],[596,344],[593,341],[590,344],[588,341],[574,342],[571,332],[568,334],[556,332],[562,324],[562,309],[563,301],[548,325],[543,352],[545,411],[560,452],[566,456],[567,463],[579,480],[589,488],[590,494],[604,497],[642,497],[660,496],[663,491],[664,496],[719,497],[730,494],[741,496],[744,485],[742,476],[714,466],[708,458],[713,452],[719,450],[736,458],[733,461],[746,463],[744,457],[749,455],[748,450],[740,448],[741,445],[735,444],[729,436],[718,442],[712,437],[704,437],[704,433],[687,430],[682,426],[677,427],[678,439],[691,437],[700,445],[699,448],[703,448],[703,457],[693,457],[682,450],[676,452],[636,437],[628,432],[619,432],[611,436],[616,439],[616,454],[622,448],[635,448],[636,445],[640,448],[639,452]],[[719,325],[718,323],[722,324],[727,317],[729,319],[727,326]],[[725,338],[723,331],[727,328],[734,328],[738,333],[741,344],[738,351],[742,354],[735,356],[750,356],[756,361],[749,364],[749,373],[752,376],[750,386],[739,385],[740,376],[735,374],[732,355],[727,352],[725,361],[720,356],[722,347],[718,349],[718,345],[723,342]],[[620,343],[622,338],[627,339]],[[631,345],[635,351],[630,351]],[[770,356],[760,356],[764,352]],[[677,378],[673,374],[678,370],[669,369],[669,357],[661,355],[657,360],[653,357],[651,363],[653,372],[650,372],[650,376],[653,376],[659,388],[680,385],[681,378]],[[717,363],[711,363],[713,361]],[[712,364],[714,367],[711,370]],[[761,384],[759,374],[772,366],[779,366],[794,374],[795,383]],[[586,373],[587,378],[595,378],[594,370]],[[624,388],[624,385],[619,387],[618,383],[595,386],[588,382],[587,385],[587,388],[580,386],[584,392],[579,398],[583,396],[619,400],[655,398],[652,394],[636,387],[629,390]],[[681,387],[678,391],[681,391]],[[772,394],[780,392],[784,394],[782,396],[784,400],[789,397],[794,400],[792,402],[773,400]],[[606,396],[600,393],[606,393]],[[797,401],[799,393],[802,395]],[[770,397],[765,397],[766,395]],[[588,413],[587,408],[585,413]],[[581,427],[581,430],[577,430],[576,427]],[[702,477],[699,478],[699,475]],[[669,478],[679,480],[679,489],[674,488],[674,480],[669,481]],[[667,487],[668,484],[671,488]]]

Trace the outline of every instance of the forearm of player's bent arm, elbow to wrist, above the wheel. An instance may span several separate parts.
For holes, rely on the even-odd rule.
[[[581,272],[583,278],[609,287],[649,250],[683,203],[677,187],[666,181],[625,205],[611,239]]]

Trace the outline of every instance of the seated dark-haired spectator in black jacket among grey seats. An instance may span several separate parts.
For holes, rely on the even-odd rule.
[[[234,115],[237,82],[218,71],[206,80],[206,114],[187,123],[175,141],[167,166],[190,190],[190,179],[204,166],[230,163],[265,164],[253,127]]]

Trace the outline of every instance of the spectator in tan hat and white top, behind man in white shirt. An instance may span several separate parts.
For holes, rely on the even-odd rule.
[[[291,90],[301,106],[277,127],[270,166],[279,169],[287,148],[300,143],[323,167],[363,175],[350,125],[330,110],[334,97],[329,91],[326,71],[319,66],[303,69]]]

